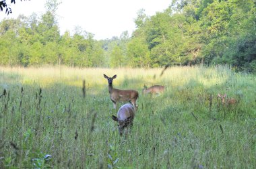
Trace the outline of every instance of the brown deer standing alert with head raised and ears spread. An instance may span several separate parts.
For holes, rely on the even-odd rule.
[[[113,88],[113,79],[117,77],[117,75],[112,78],[103,74],[104,78],[108,79],[108,92],[110,95],[111,101],[114,103],[114,109],[117,109],[118,102],[131,102],[133,107],[137,110],[136,100],[139,97],[139,93],[134,90],[119,90]]]

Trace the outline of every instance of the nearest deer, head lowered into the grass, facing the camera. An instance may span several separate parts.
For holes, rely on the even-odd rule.
[[[117,112],[117,117],[115,115],[112,116],[112,119],[119,123],[118,128],[120,135],[123,135],[125,127],[133,125],[134,116],[135,109],[130,103],[126,103],[120,107],[119,111]]]

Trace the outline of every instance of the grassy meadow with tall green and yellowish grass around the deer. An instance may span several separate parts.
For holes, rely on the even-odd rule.
[[[161,72],[0,67],[0,168],[255,168],[256,76],[225,66]],[[103,74],[139,92],[126,136]],[[144,84],[166,91],[142,95]],[[223,106],[218,93],[238,103]]]

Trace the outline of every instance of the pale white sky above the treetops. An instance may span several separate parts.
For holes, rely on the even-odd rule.
[[[57,19],[61,34],[73,32],[75,26],[94,34],[94,39],[105,40],[113,36],[119,37],[128,31],[129,36],[135,30],[134,19],[139,9],[145,9],[146,15],[152,16],[162,12],[171,4],[171,0],[59,0]],[[23,14],[45,13],[46,0],[30,0],[10,3],[12,13],[0,11],[0,21],[5,18],[16,18]],[[71,5],[72,3],[72,5]]]

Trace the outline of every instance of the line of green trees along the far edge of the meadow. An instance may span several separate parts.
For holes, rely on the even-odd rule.
[[[39,17],[1,21],[1,65],[230,64],[235,70],[256,72],[255,0],[173,0],[165,11],[151,17],[143,9],[138,11],[131,37],[123,32],[100,41],[79,27],[72,35],[60,35],[53,9]]]

